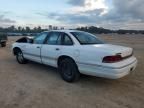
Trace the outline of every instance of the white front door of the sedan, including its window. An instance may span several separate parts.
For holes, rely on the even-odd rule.
[[[47,35],[47,32],[43,32],[34,38],[33,43],[28,43],[25,48],[24,57],[41,63],[41,48]]]

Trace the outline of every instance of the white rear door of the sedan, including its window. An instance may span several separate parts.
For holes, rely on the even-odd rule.
[[[61,33],[51,32],[41,49],[42,63],[57,67],[57,59],[61,53]]]

